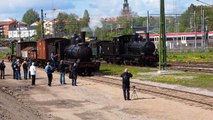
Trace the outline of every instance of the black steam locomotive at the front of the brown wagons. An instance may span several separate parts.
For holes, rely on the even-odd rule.
[[[99,70],[100,62],[93,57],[92,49],[85,42],[86,32],[81,32],[81,35],[74,35],[71,45],[64,50],[65,64],[78,64],[78,72],[81,75],[90,75],[92,72]]]

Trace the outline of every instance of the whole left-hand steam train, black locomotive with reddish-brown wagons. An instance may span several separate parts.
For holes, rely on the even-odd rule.
[[[16,58],[31,59],[37,66],[44,67],[49,61],[58,68],[60,60],[66,64],[67,71],[74,63],[78,64],[80,75],[91,75],[99,70],[100,62],[93,58],[92,50],[85,42],[86,32],[75,34],[71,40],[66,38],[45,38],[38,41],[16,42]]]

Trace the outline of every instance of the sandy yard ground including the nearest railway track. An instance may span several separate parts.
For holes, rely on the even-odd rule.
[[[213,92],[132,79],[131,100],[124,101],[121,79],[97,74],[79,77],[78,86],[60,85],[54,73],[47,86],[43,69],[37,69],[36,86],[31,80],[13,80],[9,62],[6,79],[0,81],[2,120],[210,120]],[[141,73],[150,74],[151,73]],[[152,73],[156,74],[156,73]]]

